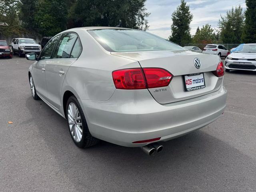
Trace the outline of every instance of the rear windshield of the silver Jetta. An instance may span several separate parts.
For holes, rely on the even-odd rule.
[[[100,29],[88,32],[110,52],[184,50],[168,40],[140,30]]]

